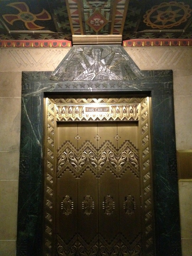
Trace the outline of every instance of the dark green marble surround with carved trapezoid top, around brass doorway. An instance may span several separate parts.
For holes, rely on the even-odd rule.
[[[55,245],[43,236],[46,221],[52,222],[51,214],[45,216],[43,211],[46,97],[149,98],[152,155],[149,185],[153,187],[146,185],[146,177],[142,183],[146,185],[144,193],[151,190],[153,194],[154,210],[149,211],[148,204],[144,204],[143,221],[153,219],[153,225],[145,225],[144,249],[136,255],[180,256],[172,71],[141,71],[121,46],[72,47],[53,73],[25,72],[22,75],[17,256],[62,255],[54,254]],[[151,236],[152,227],[154,236]],[[47,234],[52,232],[47,230]],[[78,252],[78,255],[84,254]]]

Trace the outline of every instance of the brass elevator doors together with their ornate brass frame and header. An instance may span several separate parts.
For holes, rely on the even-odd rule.
[[[149,97],[46,98],[44,255],[155,255],[153,242],[154,224],[149,100]],[[115,127],[114,130],[116,130],[116,127],[119,127],[119,125],[121,127],[122,123],[123,126],[126,126],[127,124],[136,124],[137,127],[135,129],[137,129],[136,133],[138,134],[137,147],[129,142],[129,139],[127,140],[126,136],[125,141],[121,143],[121,147],[118,146],[118,141],[121,138],[118,131],[116,134],[113,133],[113,143],[107,140],[104,144],[99,144],[101,136],[98,133],[98,126],[102,124],[101,127],[105,128],[105,125],[107,124],[108,127],[110,127],[109,123],[111,126]],[[88,140],[84,140],[81,147],[78,146],[81,135],[77,132],[76,134],[74,133],[74,136],[72,128],[70,128],[71,125],[73,127],[75,125],[77,125],[77,127],[80,125],[82,126],[82,129],[85,129],[84,126],[87,127],[86,133],[88,134],[88,140],[89,137],[94,137],[95,144]],[[73,143],[66,139],[64,145],[57,145],[59,144],[59,135],[57,135],[58,132],[56,131],[58,127],[65,126],[68,127],[69,130],[69,136],[66,135],[65,137],[71,137]],[[94,127],[97,127],[95,133],[92,133],[95,134],[95,136],[89,135],[89,127],[91,127],[91,130],[95,129]],[[62,131],[63,129],[65,128],[62,128]],[[108,130],[107,132],[106,130],[102,131],[104,133],[109,132]],[[63,138],[60,139],[60,142],[63,142],[63,140]],[[117,146],[114,146],[116,143]],[[111,157],[109,153],[107,155],[107,150],[108,152],[111,152]],[[87,155],[89,155],[89,157]],[[105,166],[105,158],[111,159],[109,160],[109,165]],[[123,159],[126,159],[126,161]],[[99,162],[102,163],[99,164]],[[105,170],[102,168],[96,170],[96,165],[105,166]],[[116,183],[113,182],[117,181],[118,186],[126,187],[126,182],[129,179],[131,180],[132,177],[134,180],[135,177],[138,184],[139,198],[135,198],[133,194],[127,193],[126,189],[123,189],[119,194],[120,199],[118,203],[114,194],[110,194],[111,191],[110,193],[106,192],[105,196],[102,196],[102,198],[100,198],[99,194],[98,198],[96,198],[95,195],[93,196],[88,193],[87,190],[84,191],[85,193],[79,192],[79,202],[74,196],[71,196],[70,191],[68,194],[65,188],[62,188],[64,193],[58,195],[58,188],[62,186],[62,183],[58,180],[60,177],[62,177],[61,179],[64,179],[64,172],[66,174],[66,180],[70,180],[71,176],[73,176],[73,180],[75,180],[76,183],[80,183],[81,177],[87,175],[87,178],[89,178],[89,175],[94,174],[95,180],[98,182],[98,187],[100,187],[100,184],[102,183],[100,182],[101,176],[104,172],[105,175],[108,175],[107,179],[111,177],[106,170],[113,175],[110,182],[114,185],[114,191],[118,191],[118,188],[115,188]],[[126,171],[127,180],[126,178],[123,180]],[[131,173],[132,176],[128,176],[129,173]],[[92,185],[95,180],[91,178]],[[133,180],[130,182],[134,183]],[[103,182],[103,184],[105,184],[105,181]],[[82,184],[85,186],[85,182],[82,182]],[[91,187],[91,185],[88,187]],[[102,186],[101,190],[104,190]],[[75,215],[74,213],[77,211],[78,204],[79,209],[81,208],[80,210],[84,221],[87,220],[87,222],[90,221],[90,217],[92,218],[92,213],[97,210],[99,213],[98,215],[103,216],[101,226],[105,226],[106,222],[103,220],[105,218],[108,221],[106,225],[115,225],[112,223],[112,218],[115,215],[114,213],[118,210],[121,214],[117,216],[117,219],[122,219],[122,221],[120,220],[122,230],[129,230],[131,218],[138,214],[137,218],[140,218],[140,232],[135,235],[133,230],[132,233],[134,236],[132,239],[131,236],[126,238],[126,235],[129,232],[125,232],[125,234],[122,235],[122,230],[120,228],[118,235],[114,235],[115,238],[111,237],[109,239],[110,241],[107,241],[106,238],[103,238],[101,234],[102,232],[99,230],[100,234],[95,238],[92,232],[90,234],[91,241],[86,243],[85,239],[81,236],[72,234],[73,232],[70,231],[69,233],[73,239],[68,239],[68,241],[64,242],[63,237],[60,237],[58,230],[60,230],[61,233],[63,232],[63,236],[67,231],[62,231],[61,227],[58,228],[57,219],[60,218],[59,216],[62,216],[62,218],[65,219],[64,226],[70,228],[70,225],[68,225],[67,222],[69,222],[72,215]],[[60,213],[58,213],[59,211]],[[124,214],[123,217],[122,213]],[[127,222],[129,225],[127,224],[126,226],[127,219],[129,219],[129,222]],[[78,220],[73,218],[72,221],[78,222]],[[69,222],[69,224],[70,223],[72,222]],[[131,226],[131,229],[134,229],[134,224]],[[74,225],[76,225],[76,223]],[[79,229],[83,228],[83,225],[82,227],[80,227],[81,224],[78,225]],[[107,229],[106,226],[105,229]],[[111,234],[110,230],[113,229],[108,228],[109,234]],[[86,235],[86,240],[89,240],[89,234],[85,234],[85,236]]]

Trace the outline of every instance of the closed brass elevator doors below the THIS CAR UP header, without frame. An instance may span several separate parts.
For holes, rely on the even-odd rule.
[[[57,127],[56,255],[142,255],[138,122]]]

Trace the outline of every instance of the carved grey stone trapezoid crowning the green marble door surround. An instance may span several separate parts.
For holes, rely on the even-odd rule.
[[[74,72],[71,72],[74,70]],[[70,54],[50,76],[52,80],[102,81],[144,79],[123,48],[73,47]]]

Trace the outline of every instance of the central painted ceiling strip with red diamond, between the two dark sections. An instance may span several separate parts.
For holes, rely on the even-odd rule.
[[[122,34],[129,0],[66,0],[73,35]]]

